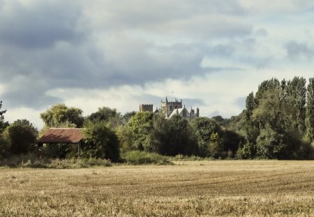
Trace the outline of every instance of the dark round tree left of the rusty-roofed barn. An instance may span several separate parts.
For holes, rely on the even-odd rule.
[[[37,135],[37,129],[25,119],[14,121],[3,133],[3,137],[10,143],[11,154],[26,154],[34,151]]]

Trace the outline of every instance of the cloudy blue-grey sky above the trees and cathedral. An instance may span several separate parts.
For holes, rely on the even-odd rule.
[[[276,77],[314,77],[306,0],[0,0],[0,100],[6,121],[57,103],[119,112],[182,99],[225,118]]]

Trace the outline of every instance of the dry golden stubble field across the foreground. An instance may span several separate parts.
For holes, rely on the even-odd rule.
[[[0,168],[0,216],[314,216],[314,161]]]

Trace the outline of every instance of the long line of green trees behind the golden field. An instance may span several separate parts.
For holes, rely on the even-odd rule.
[[[313,80],[276,78],[249,93],[241,114],[197,117],[190,122],[179,115],[165,119],[151,112],[121,114],[99,107],[87,117],[77,107],[57,104],[40,114],[45,127],[38,130],[27,120],[4,121],[0,104],[0,158],[36,152],[36,140],[50,127],[84,128],[80,157],[121,160],[128,151],[164,156],[207,158],[312,159],[314,140]],[[76,158],[73,145],[43,147],[49,158]]]

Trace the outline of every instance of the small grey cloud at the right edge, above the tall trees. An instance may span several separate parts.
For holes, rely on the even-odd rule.
[[[299,57],[312,59],[314,56],[313,47],[310,47],[307,43],[297,43],[294,40],[285,44],[285,50],[287,51],[287,57],[290,59],[296,59]]]

